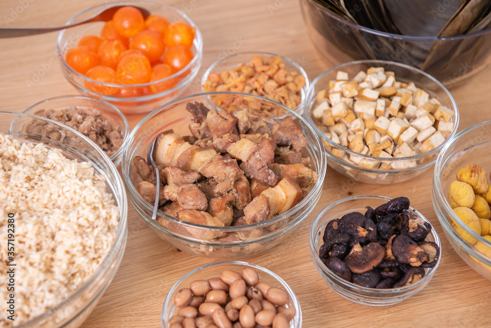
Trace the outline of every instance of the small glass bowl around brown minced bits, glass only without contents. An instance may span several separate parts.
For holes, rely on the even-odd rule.
[[[121,158],[123,157],[123,146],[126,142],[128,142],[128,137],[130,136],[130,126],[128,125],[126,116],[124,116],[119,109],[108,102],[87,96],[59,96],[42,100],[24,110],[24,113],[36,115],[37,111],[43,109],[63,110],[70,109],[74,106],[84,109],[97,109],[101,112],[102,118],[108,120],[113,127],[121,130],[123,142],[118,150],[109,156],[112,163],[117,167],[121,163]]]

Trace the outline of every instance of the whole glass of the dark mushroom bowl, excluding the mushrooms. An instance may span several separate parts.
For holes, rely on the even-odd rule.
[[[420,280],[408,286],[391,289],[361,287],[342,279],[340,276],[327,269],[326,265],[319,258],[319,248],[323,244],[322,236],[324,235],[324,229],[326,228],[327,222],[333,219],[339,219],[343,215],[351,212],[360,212],[364,214],[366,212],[366,206],[376,208],[379,205],[385,204],[390,199],[391,198],[371,195],[343,198],[325,207],[317,215],[312,223],[312,226],[310,227],[310,257],[315,269],[334,292],[352,302],[363,305],[385,306],[404,301],[410,296],[421,291],[430,282],[436,272],[436,269],[438,268],[438,265],[440,264],[440,239],[438,238],[435,229],[432,228],[432,231],[426,237],[426,241],[434,242],[440,247],[440,256],[438,257],[438,261],[436,262],[435,267],[425,269],[426,273]],[[409,207],[409,210],[418,215],[420,218],[423,218],[426,222],[430,223],[421,213],[412,207]]]

